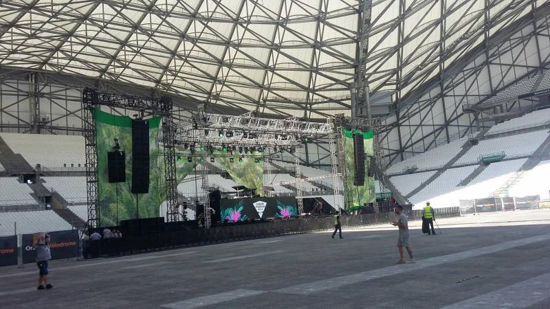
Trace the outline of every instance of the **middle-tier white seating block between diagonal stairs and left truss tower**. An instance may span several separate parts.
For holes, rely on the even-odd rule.
[[[69,203],[87,201],[85,176],[48,176],[42,179],[48,190],[58,192]]]

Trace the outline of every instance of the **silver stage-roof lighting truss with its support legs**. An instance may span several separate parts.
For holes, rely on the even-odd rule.
[[[294,152],[294,166],[296,179],[302,179],[300,165],[301,144],[307,143],[307,139],[318,139],[320,137],[333,136],[335,131],[334,119],[327,119],[325,123],[305,122],[296,117],[287,119],[267,119],[255,117],[249,112],[244,115],[230,116],[206,113],[204,106],[198,107],[197,115],[185,122],[177,124],[175,143],[183,144],[192,150],[197,148],[217,146],[234,149],[236,147],[250,146],[251,152],[263,147],[273,147],[289,152]],[[332,140],[332,138],[331,138]],[[262,157],[265,158],[263,155]],[[206,160],[206,151],[199,152],[203,160]],[[267,163],[264,163],[264,166]],[[336,166],[336,161],[333,161]],[[333,169],[334,170],[334,169]],[[270,167],[268,175],[271,174]],[[208,198],[208,170],[203,167],[202,190],[206,190],[203,196],[205,227],[210,228],[210,201]],[[336,177],[336,176],[334,176]],[[334,181],[335,192],[339,192],[338,181]],[[336,194],[336,193],[335,193]],[[303,214],[303,189],[302,181],[296,181],[296,203],[298,211]],[[339,208],[339,205],[338,205]]]

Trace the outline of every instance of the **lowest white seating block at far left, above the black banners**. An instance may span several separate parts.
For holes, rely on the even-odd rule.
[[[14,231],[14,222],[17,222],[16,231]],[[12,211],[0,214],[0,236],[67,229],[72,229],[71,225],[53,210]]]

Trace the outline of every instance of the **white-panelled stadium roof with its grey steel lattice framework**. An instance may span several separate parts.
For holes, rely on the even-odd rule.
[[[248,110],[325,119],[350,113],[363,78],[370,93],[392,96],[380,131],[387,165],[483,129],[483,115],[465,115],[461,104],[487,100],[547,69],[549,6],[534,0],[3,1],[0,129],[81,134],[84,87],[168,95],[176,120],[201,102],[221,115]],[[536,61],[525,61],[533,51]],[[318,148],[329,156],[329,145]],[[316,163],[305,156],[306,164]]]

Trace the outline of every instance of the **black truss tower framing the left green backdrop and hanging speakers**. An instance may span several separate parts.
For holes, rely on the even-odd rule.
[[[96,124],[92,111],[99,106],[111,108],[126,108],[134,111],[149,111],[153,115],[162,116],[162,143],[164,144],[164,179],[167,203],[167,220],[178,220],[177,180],[175,165],[175,126],[173,121],[173,105],[170,98],[141,98],[131,95],[113,93],[98,93],[94,89],[85,88],[82,95],[83,128],[86,143],[86,183],[88,201],[88,227],[100,227],[98,214],[98,149],[96,141]]]

